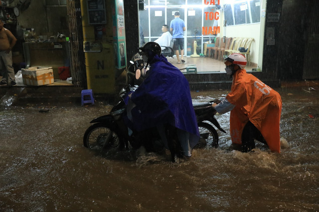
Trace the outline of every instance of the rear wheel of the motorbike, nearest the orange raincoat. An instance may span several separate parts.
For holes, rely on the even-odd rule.
[[[218,145],[218,134],[215,128],[205,122],[198,123],[198,131],[200,140],[205,140],[206,144],[217,148]]]

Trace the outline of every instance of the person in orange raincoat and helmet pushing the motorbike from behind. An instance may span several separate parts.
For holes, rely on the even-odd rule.
[[[231,91],[212,106],[220,114],[231,111],[231,140],[242,144],[242,152],[255,148],[255,139],[280,152],[281,97],[257,77],[246,73],[246,64],[245,56],[239,53],[226,58],[225,71],[233,78]]]

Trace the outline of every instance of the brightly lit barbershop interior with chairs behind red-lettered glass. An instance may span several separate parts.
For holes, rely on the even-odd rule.
[[[155,41],[178,11],[186,28],[185,63],[167,58],[174,66],[183,72],[187,67],[224,72],[224,57],[240,52],[247,58],[247,71],[261,71],[265,8],[265,0],[145,0],[140,3],[140,35],[145,42]]]

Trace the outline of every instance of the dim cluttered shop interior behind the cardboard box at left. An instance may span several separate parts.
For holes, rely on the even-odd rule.
[[[12,48],[15,73],[28,67],[52,67],[55,84],[72,85],[72,81],[67,80],[71,74],[66,0],[0,2],[4,28],[17,39]]]

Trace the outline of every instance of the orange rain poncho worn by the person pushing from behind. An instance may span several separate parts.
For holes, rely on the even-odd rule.
[[[241,135],[248,121],[261,132],[272,151],[280,152],[279,122],[282,101],[279,93],[257,77],[238,70],[226,99],[236,107],[230,112],[230,135],[241,144]]]

